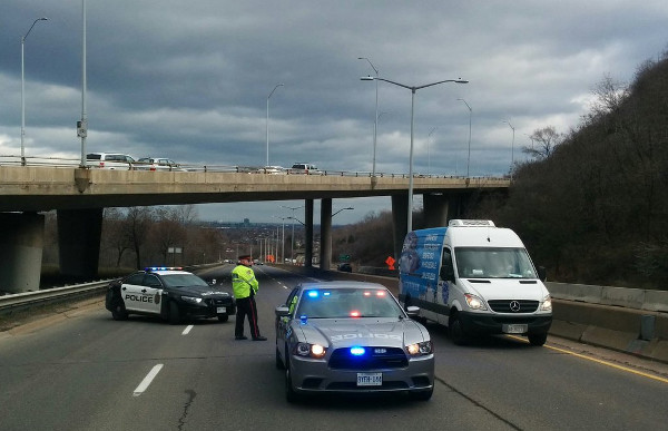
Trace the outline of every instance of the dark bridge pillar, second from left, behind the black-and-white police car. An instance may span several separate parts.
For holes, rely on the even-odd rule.
[[[96,277],[101,234],[102,208],[58,209],[60,274]]]

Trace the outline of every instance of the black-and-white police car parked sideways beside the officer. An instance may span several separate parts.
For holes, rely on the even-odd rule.
[[[145,314],[159,315],[171,324],[191,317],[227,322],[236,313],[232,294],[180,267],[149,267],[116,280],[109,284],[105,305],[117,321]]]

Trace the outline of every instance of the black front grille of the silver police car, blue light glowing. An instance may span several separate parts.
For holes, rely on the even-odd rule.
[[[409,366],[409,360],[399,347],[365,347],[370,353],[353,356],[350,349],[337,349],[332,352],[330,368],[333,370],[377,370],[402,369]],[[381,352],[382,350],[383,352]]]

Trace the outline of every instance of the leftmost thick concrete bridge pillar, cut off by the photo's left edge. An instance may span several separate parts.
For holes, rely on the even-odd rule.
[[[45,216],[0,213],[0,292],[39,291]]]

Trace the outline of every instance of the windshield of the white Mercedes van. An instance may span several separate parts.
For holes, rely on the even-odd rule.
[[[524,248],[455,247],[460,278],[537,278]]]

